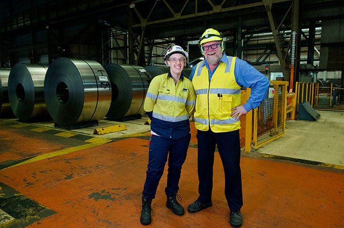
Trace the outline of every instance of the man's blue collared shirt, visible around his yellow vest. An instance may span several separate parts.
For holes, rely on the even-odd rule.
[[[220,62],[228,64],[228,58],[225,54],[223,54]],[[204,60],[204,66],[208,69],[209,82],[212,75],[216,72],[219,64],[214,68],[212,72],[210,72],[209,65],[206,60]],[[196,67],[197,64],[192,68],[189,77],[191,81],[195,74]],[[245,110],[249,111],[253,108],[258,107],[262,100],[264,100],[264,98],[266,97],[270,85],[269,80],[264,76],[263,73],[256,70],[248,62],[243,61],[239,58],[236,58],[235,60],[234,77],[239,86],[251,89],[250,97],[248,98],[247,102],[243,104]]]

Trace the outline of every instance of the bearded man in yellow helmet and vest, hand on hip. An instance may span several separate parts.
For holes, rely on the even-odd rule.
[[[265,98],[269,80],[247,62],[224,54],[223,36],[209,28],[200,37],[205,60],[193,67],[190,80],[196,92],[194,113],[198,140],[198,199],[188,211],[212,206],[214,151],[218,146],[225,171],[225,196],[230,224],[242,225],[243,205],[240,170],[240,116],[256,108]],[[241,87],[251,88],[247,102],[240,105]]]

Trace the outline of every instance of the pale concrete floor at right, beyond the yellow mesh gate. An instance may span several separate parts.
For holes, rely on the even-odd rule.
[[[256,153],[344,169],[344,111],[317,112],[317,122],[287,121],[285,134]]]

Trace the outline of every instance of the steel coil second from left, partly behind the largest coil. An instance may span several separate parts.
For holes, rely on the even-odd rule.
[[[16,63],[9,75],[8,94],[11,108],[19,121],[49,117],[44,100],[47,66]]]

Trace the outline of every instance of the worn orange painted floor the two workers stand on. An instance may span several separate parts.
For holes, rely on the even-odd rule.
[[[9,214],[14,220],[0,223],[0,227],[145,227],[139,220],[148,133],[105,144],[92,144],[91,140],[88,146],[93,136],[63,137],[59,130],[16,124],[20,123],[0,121],[0,209],[9,211],[11,202],[5,199],[12,196],[16,200],[20,195],[49,212],[38,216],[30,209],[22,217]],[[180,180],[179,195],[185,209],[198,196],[194,129],[192,134]],[[342,170],[245,153],[241,169],[242,227],[344,227]],[[166,173],[153,200],[148,227],[230,226],[218,154],[212,207],[177,216],[165,207],[165,184]]]

